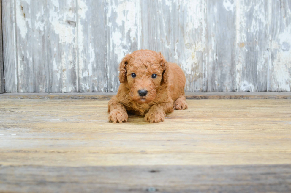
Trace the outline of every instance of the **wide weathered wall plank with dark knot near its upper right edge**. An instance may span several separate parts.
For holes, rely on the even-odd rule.
[[[18,92],[76,91],[74,1],[15,1]]]

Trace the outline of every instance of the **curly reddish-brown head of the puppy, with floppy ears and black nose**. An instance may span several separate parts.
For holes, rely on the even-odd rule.
[[[156,98],[157,88],[168,84],[168,65],[161,53],[138,50],[127,54],[119,65],[119,80],[129,87],[129,95],[138,103]]]

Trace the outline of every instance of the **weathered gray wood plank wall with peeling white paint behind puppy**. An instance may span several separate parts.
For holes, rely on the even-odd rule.
[[[116,92],[138,49],[186,91],[291,91],[291,0],[2,0],[6,92]]]

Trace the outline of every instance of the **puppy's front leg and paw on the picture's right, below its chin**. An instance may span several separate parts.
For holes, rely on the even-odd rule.
[[[173,112],[173,103],[160,103],[151,106],[145,116],[146,122],[159,123],[165,120],[166,113]]]

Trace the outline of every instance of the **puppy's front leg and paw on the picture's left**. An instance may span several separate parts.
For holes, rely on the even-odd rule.
[[[113,123],[127,122],[128,115],[123,104],[119,103],[116,96],[108,103],[108,120]]]

